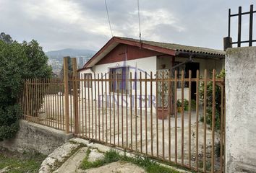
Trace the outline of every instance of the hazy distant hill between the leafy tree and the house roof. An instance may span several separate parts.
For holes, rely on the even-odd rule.
[[[53,50],[46,52],[46,56],[49,58],[49,65],[52,66],[55,74],[59,74],[63,66],[63,57],[70,56],[71,58],[77,58],[77,68],[82,66],[95,54],[94,50],[87,49],[72,49],[66,48],[61,50]]]

